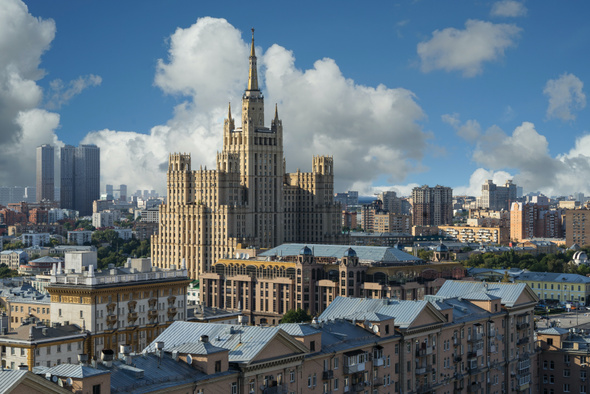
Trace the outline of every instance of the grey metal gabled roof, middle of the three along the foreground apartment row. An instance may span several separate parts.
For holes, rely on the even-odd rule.
[[[394,324],[397,327],[407,328],[427,305],[428,301],[398,301],[338,296],[328,305],[328,308],[320,315],[318,320],[355,319],[371,321],[371,318],[382,320],[382,316],[389,316],[395,319]]]

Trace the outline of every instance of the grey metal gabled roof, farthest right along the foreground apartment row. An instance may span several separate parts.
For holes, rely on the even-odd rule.
[[[465,298],[467,300],[485,299],[484,294],[496,296],[501,303],[512,307],[525,291],[525,283],[484,283],[460,280],[447,280],[436,293],[442,298]]]

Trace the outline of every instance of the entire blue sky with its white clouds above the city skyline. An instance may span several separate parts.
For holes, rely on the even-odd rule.
[[[334,155],[336,190],[582,191],[590,5],[552,1],[0,3],[0,184],[34,147],[96,143],[102,183],[165,187],[170,152],[215,166],[256,28],[287,170]],[[239,117],[238,117],[239,121]]]

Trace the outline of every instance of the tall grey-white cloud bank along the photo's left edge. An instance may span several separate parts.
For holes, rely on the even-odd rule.
[[[0,185],[32,185],[35,147],[59,142],[59,115],[36,109],[41,56],[54,36],[53,20],[33,17],[22,1],[0,1]]]

